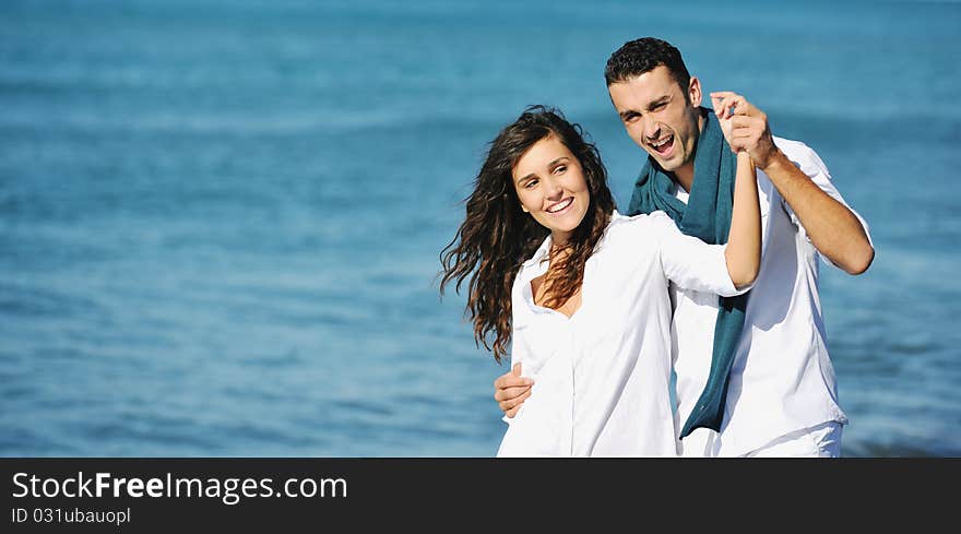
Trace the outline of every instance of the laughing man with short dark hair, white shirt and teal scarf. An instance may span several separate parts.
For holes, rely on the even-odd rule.
[[[668,43],[625,44],[605,79],[628,135],[649,155],[630,214],[663,210],[681,232],[723,242],[733,188],[724,154],[746,151],[758,168],[763,248],[754,288],[739,300],[671,288],[683,454],[839,456],[847,417],[827,352],[818,254],[865,272],[874,260],[867,224],[818,155],[773,137],[741,95],[711,93],[714,111],[700,107],[700,81]],[[495,381],[507,417],[532,393],[521,372]]]

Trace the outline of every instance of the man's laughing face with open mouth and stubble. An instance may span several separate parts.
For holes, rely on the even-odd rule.
[[[693,168],[700,134],[701,85],[690,79],[681,90],[665,66],[607,87],[628,135],[664,170]],[[686,93],[686,94],[685,94]],[[687,97],[685,97],[687,96]]]

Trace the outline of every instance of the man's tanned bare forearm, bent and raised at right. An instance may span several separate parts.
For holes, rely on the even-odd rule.
[[[850,274],[867,271],[875,251],[861,221],[847,206],[819,188],[780,150],[762,170],[820,253]]]

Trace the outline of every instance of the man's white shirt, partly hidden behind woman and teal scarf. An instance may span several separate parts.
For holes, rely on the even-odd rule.
[[[811,149],[780,138],[774,138],[774,143],[818,187],[847,205]],[[684,439],[686,456],[746,454],[795,430],[831,420],[847,423],[838,404],[834,369],[828,357],[818,296],[819,253],[794,211],[760,169],[758,194],[761,270],[748,297],[721,435],[695,430]],[[678,188],[676,195],[687,202],[683,189]],[[854,215],[870,239],[867,223],[856,212]],[[717,297],[674,285],[671,293],[675,302],[671,333],[677,411],[683,425],[708,381]]]

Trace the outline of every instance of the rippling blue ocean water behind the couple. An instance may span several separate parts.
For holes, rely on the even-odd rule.
[[[603,66],[643,35],[871,225],[821,278],[844,453],[961,455],[961,4],[571,0],[4,2],[0,455],[493,455],[438,254],[529,104],[626,204]]]

